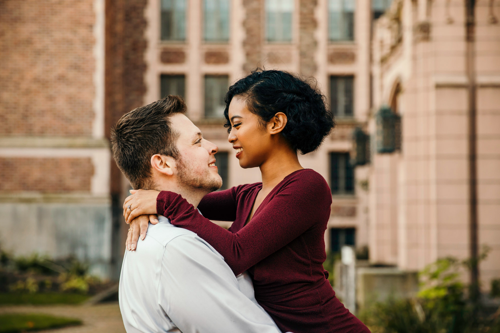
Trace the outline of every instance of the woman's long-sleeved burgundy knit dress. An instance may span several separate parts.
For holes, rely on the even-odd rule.
[[[324,178],[311,169],[290,173],[245,225],[261,188],[259,182],[212,192],[198,205],[203,216],[169,191],[160,192],[156,208],[211,244],[235,275],[248,270],[255,298],[283,332],[369,332],[335,297],[323,269],[331,205]],[[234,222],[226,230],[209,219]]]

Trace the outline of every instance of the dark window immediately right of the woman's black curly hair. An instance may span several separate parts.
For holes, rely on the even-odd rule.
[[[353,116],[354,76],[330,76],[330,106],[337,117]]]

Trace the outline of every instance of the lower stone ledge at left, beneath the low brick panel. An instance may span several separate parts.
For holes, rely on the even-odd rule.
[[[89,193],[38,193],[0,192],[1,203],[80,203],[109,205],[108,195],[95,196]]]

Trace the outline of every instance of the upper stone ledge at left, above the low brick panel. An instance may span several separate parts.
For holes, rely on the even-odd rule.
[[[106,138],[64,136],[0,136],[1,148],[108,148]]]

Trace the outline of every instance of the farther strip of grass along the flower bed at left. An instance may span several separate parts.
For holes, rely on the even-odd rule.
[[[77,293],[0,293],[0,305],[78,304],[89,296]],[[2,332],[0,330],[0,332]]]

